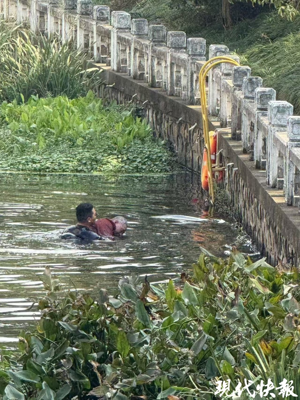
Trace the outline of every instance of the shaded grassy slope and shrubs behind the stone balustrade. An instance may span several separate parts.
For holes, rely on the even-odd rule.
[[[294,114],[300,114],[298,1],[276,1],[276,10],[270,1],[94,0],[94,3],[126,10],[132,18],[165,24],[169,30],[183,30],[188,37],[205,38],[207,50],[210,44],[225,44],[241,57],[241,64],[252,68],[253,76],[263,78],[265,87],[276,90],[278,100],[290,102]]]

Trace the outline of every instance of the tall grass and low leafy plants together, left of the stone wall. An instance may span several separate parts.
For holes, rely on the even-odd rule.
[[[168,173],[174,157],[132,105],[96,98],[98,68],[60,44],[0,21],[0,170]]]

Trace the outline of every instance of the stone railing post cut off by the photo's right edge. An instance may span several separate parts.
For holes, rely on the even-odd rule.
[[[285,198],[288,206],[296,205],[299,202],[299,182],[295,182],[296,166],[290,160],[290,149],[300,147],[300,116],[288,118],[288,147],[286,150],[286,170],[285,170]]]

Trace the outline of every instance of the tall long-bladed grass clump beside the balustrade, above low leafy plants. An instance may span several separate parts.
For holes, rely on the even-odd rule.
[[[75,98],[98,83],[98,70],[88,69],[86,55],[71,43],[0,22],[0,100],[26,102],[31,95],[63,94]]]

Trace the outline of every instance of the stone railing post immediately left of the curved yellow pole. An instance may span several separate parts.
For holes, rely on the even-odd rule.
[[[189,104],[196,104],[196,98],[200,97],[199,72],[194,64],[198,61],[205,61],[206,40],[203,38],[189,38],[186,42],[188,53],[188,87],[187,100]]]

